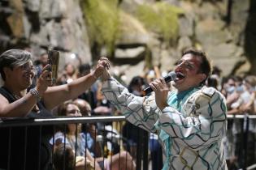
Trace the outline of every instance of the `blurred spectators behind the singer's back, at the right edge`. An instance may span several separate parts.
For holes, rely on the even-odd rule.
[[[223,79],[219,89],[227,99],[228,115],[244,115],[243,119],[228,119],[228,131],[224,138],[225,155],[229,169],[243,168],[243,164],[253,165],[255,161],[256,121],[248,119],[256,113],[256,76],[230,76]]]

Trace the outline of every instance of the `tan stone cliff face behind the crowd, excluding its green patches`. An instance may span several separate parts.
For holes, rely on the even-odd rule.
[[[145,66],[171,70],[181,51],[191,46],[205,50],[223,75],[256,72],[251,69],[256,68],[253,0],[118,2],[120,32],[111,58],[118,70],[128,73],[128,80]],[[178,32],[172,40],[163,40],[135,15],[141,5],[158,2],[183,11],[178,15]],[[98,56],[93,56],[82,11],[79,0],[3,0],[0,52],[29,46],[37,57],[51,46],[63,52],[61,65],[70,60],[71,53],[76,53],[81,62],[93,62]],[[100,48],[102,55],[107,54],[104,46]]]

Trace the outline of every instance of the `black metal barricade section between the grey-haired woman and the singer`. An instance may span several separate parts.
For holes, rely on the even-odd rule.
[[[0,121],[0,130],[2,132],[6,132],[5,136],[2,136],[2,138],[7,138],[7,146],[5,146],[7,151],[7,155],[6,159],[6,166],[3,167],[3,169],[16,169],[17,170],[17,166],[19,164],[19,169],[25,169],[25,170],[29,170],[31,169],[31,167],[29,166],[29,164],[36,164],[35,166],[37,168],[33,168],[33,169],[44,169],[42,168],[41,164],[44,161],[44,153],[42,152],[42,148],[44,147],[44,145],[41,145],[41,140],[44,140],[44,130],[46,129],[46,127],[50,127],[50,140],[46,141],[46,142],[51,142],[50,144],[52,145],[51,147],[51,160],[50,160],[50,168],[54,169],[54,161],[56,162],[56,160],[54,160],[54,152],[56,151],[56,147],[55,147],[55,139],[59,138],[59,136],[54,135],[56,133],[56,131],[54,131],[56,126],[59,125],[64,125],[64,133],[63,133],[63,153],[67,154],[67,149],[68,149],[68,145],[67,145],[67,125],[76,125],[76,130],[78,125],[82,124],[82,125],[88,125],[88,124],[92,124],[92,125],[96,125],[96,124],[102,124],[102,129],[99,130],[98,129],[98,133],[93,134],[93,138],[96,139],[96,142],[98,142],[98,144],[100,145],[100,153],[102,154],[102,168],[104,169],[112,169],[114,168],[114,166],[112,166],[111,164],[113,164],[113,162],[115,161],[115,159],[119,159],[119,163],[118,163],[118,168],[115,169],[121,169],[120,167],[125,167],[128,165],[124,165],[124,158],[128,158],[127,155],[129,155],[128,151],[125,151],[124,148],[124,142],[126,142],[126,139],[123,137],[123,135],[121,134],[121,129],[122,129],[122,125],[125,121],[125,117],[124,116],[118,116],[118,117],[50,117],[50,118],[2,118]],[[115,122],[115,125],[113,124],[113,122]],[[109,129],[109,126],[111,126],[112,128]],[[119,129],[117,130],[118,132],[116,132],[114,130],[115,129]],[[54,127],[53,129],[51,129],[51,127]],[[108,128],[108,129],[107,129]],[[36,140],[34,141],[35,146],[37,145],[36,150],[38,151],[34,151],[34,156],[32,156],[31,151],[28,151],[27,148],[31,147],[31,132],[33,131],[33,129],[36,130],[36,134],[37,137],[33,137]],[[19,131],[20,130],[20,131]],[[32,131],[31,131],[32,130]],[[86,131],[86,130],[85,130]],[[18,132],[18,133],[16,133]],[[18,140],[18,138],[15,137],[15,135],[19,136],[23,136],[23,138],[20,138],[20,140]],[[35,133],[33,134],[35,135]],[[142,134],[139,135],[140,138],[138,138],[138,140],[140,141],[138,143],[137,146],[137,157],[136,158],[132,158],[133,162],[136,162],[136,168],[134,168],[132,166],[132,168],[134,170],[145,170],[148,169],[148,134],[143,130]],[[76,134],[76,142],[75,142],[75,148],[78,147],[79,143],[77,142],[77,134]],[[85,141],[86,141],[87,136],[85,135]],[[2,139],[1,139],[2,140]],[[109,147],[109,143],[108,142],[115,142],[116,145],[118,145],[119,148],[116,148],[114,145],[111,145],[111,147]],[[58,141],[57,141],[58,142]],[[3,142],[2,142],[3,143]],[[22,155],[20,156],[20,161],[18,162],[11,162],[11,160],[15,160],[13,158],[16,147],[15,144],[16,143],[22,143],[24,146],[22,147],[21,150],[21,154],[18,155]],[[86,146],[85,146],[85,162],[86,160],[86,154],[88,154],[86,152],[87,149],[87,142],[85,142]],[[21,146],[21,145],[19,145]],[[96,146],[96,145],[95,145]],[[114,146],[114,147],[113,147]],[[4,148],[4,147],[2,147]],[[117,151],[115,151],[116,155],[113,155],[112,150],[116,149]],[[109,151],[111,150],[111,151]],[[18,151],[18,150],[17,150]],[[125,151],[125,152],[124,152]],[[76,150],[74,151],[74,155],[76,155]],[[2,152],[3,153],[3,152]],[[139,153],[139,154],[138,154]],[[1,154],[0,154],[1,155]],[[115,156],[115,158],[114,158]],[[124,158],[122,158],[122,156]],[[34,158],[32,158],[34,157]],[[2,157],[1,157],[2,158]],[[1,159],[0,158],[0,159]],[[29,159],[28,159],[29,158]],[[32,161],[32,159],[33,161]],[[108,160],[108,163],[106,164],[106,159]],[[37,160],[38,162],[35,163],[35,160]],[[75,156],[75,159],[73,160],[73,168],[76,166],[76,160],[77,157]],[[120,162],[120,160],[123,160],[123,163]],[[126,160],[128,161],[128,160]],[[63,162],[63,166],[62,168],[65,169],[65,164],[68,162],[67,161],[67,157],[63,155],[62,157],[62,162]],[[16,165],[17,166],[16,166]],[[98,163],[97,163],[98,164]],[[127,163],[127,164],[132,164],[132,163]],[[93,169],[97,169],[96,168],[96,159],[94,159],[93,165],[92,167],[94,167]],[[13,168],[15,167],[15,168]],[[89,169],[84,165],[85,168],[82,169]],[[109,167],[109,168],[106,168]],[[2,167],[0,167],[1,169]],[[48,168],[49,169],[49,168]],[[62,169],[62,170],[63,170]],[[124,169],[129,169],[129,168],[124,168]],[[90,169],[89,169],[90,170]]]

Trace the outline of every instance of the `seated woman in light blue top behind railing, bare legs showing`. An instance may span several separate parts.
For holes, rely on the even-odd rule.
[[[58,109],[59,116],[67,117],[80,117],[80,108],[74,102],[66,102],[61,104]],[[91,162],[95,162],[95,168],[98,169],[98,164],[101,169],[112,169],[112,170],[132,170],[136,169],[135,164],[132,161],[132,156],[129,155],[127,151],[121,151],[118,154],[112,155],[111,159],[106,159],[103,157],[96,158],[94,161],[93,157],[95,153],[93,152],[93,138],[89,133],[81,132],[81,125],[68,124],[66,130],[66,140],[64,140],[65,130],[61,130],[55,134],[54,140],[56,142],[65,143],[71,146],[73,151],[75,151],[76,156],[89,157]],[[51,141],[52,143],[52,141]],[[89,150],[91,152],[89,152]]]

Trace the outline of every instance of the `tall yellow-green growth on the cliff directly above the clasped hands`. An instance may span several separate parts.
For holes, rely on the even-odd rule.
[[[106,45],[108,54],[114,50],[119,30],[118,0],[81,0],[89,29],[91,44]]]

